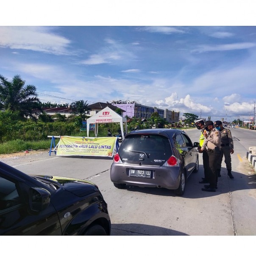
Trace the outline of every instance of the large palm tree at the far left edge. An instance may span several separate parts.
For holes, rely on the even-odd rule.
[[[37,97],[36,86],[26,85],[20,75],[15,75],[12,81],[0,75],[0,109],[19,111],[21,118],[31,117],[41,111],[40,100]],[[37,109],[37,113],[33,110]]]

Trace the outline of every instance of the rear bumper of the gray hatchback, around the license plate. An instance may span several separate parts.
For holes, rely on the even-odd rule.
[[[178,189],[180,183],[181,167],[155,167],[123,165],[113,163],[110,170],[110,179],[113,183],[125,183],[141,187],[163,187],[166,189]],[[151,170],[152,178],[130,177],[129,169]]]

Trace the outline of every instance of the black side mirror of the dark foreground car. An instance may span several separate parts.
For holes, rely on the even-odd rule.
[[[29,204],[32,211],[43,211],[50,204],[50,192],[43,188],[31,188]]]

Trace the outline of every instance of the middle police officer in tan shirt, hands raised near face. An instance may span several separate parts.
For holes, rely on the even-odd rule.
[[[206,149],[209,157],[209,185],[205,185],[202,188],[203,191],[215,192],[217,188],[217,161],[220,156],[220,138],[221,134],[216,128],[214,128],[214,123],[212,121],[206,121],[203,128],[208,128],[209,134],[206,131],[203,133],[205,136],[203,146],[201,150]]]

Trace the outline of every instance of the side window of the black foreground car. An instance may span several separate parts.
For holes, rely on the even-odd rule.
[[[21,203],[16,184],[0,177],[0,212]]]

